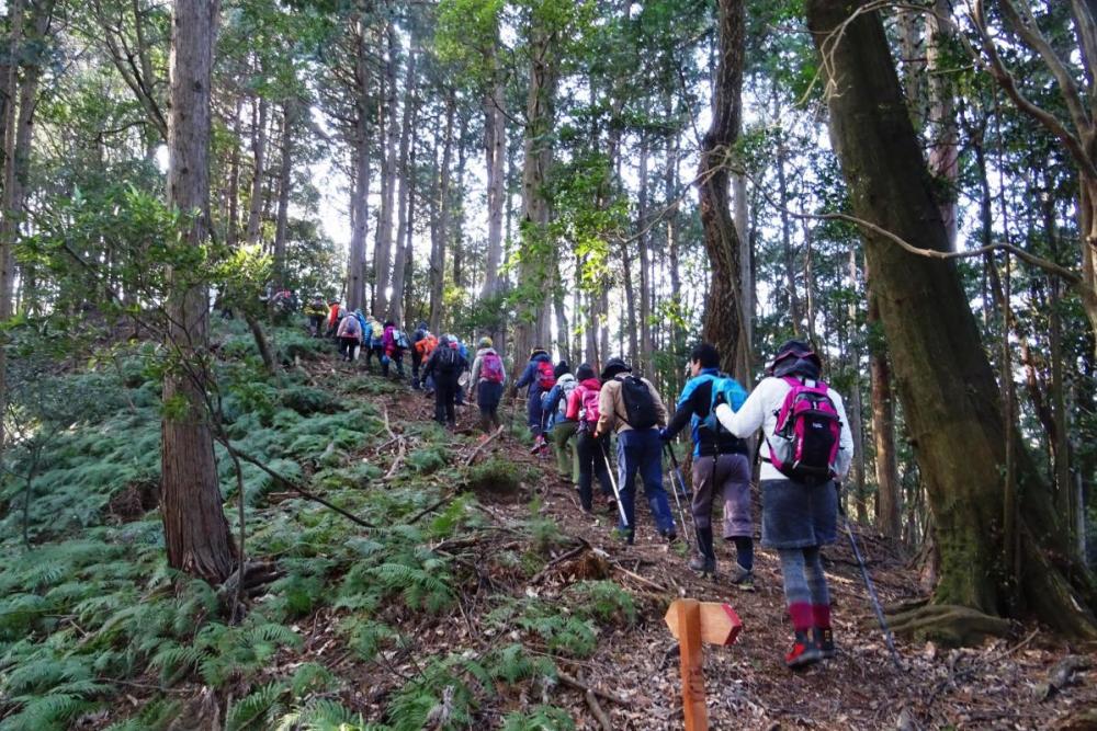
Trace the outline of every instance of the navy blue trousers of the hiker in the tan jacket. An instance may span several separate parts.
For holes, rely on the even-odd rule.
[[[627,536],[634,535],[636,529],[636,472],[644,481],[644,495],[659,533],[674,532],[675,518],[663,488],[663,439],[657,429],[626,429],[618,433],[618,490],[629,519],[627,526],[620,527]]]

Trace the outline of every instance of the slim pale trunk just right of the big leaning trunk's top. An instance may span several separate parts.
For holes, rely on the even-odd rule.
[[[957,179],[960,162],[960,133],[957,127],[955,101],[953,100],[949,53],[953,45],[955,26],[952,24],[952,9],[949,0],[934,0],[934,7],[926,14],[926,70],[929,78],[929,172],[940,181],[938,208],[945,222],[950,249],[957,242]]]

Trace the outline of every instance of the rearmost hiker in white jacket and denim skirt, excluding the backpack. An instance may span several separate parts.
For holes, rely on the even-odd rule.
[[[760,447],[761,544],[776,549],[781,558],[784,594],[795,631],[792,650],[784,661],[793,669],[805,667],[835,654],[830,597],[819,560],[819,547],[837,539],[836,480],[840,481],[846,476],[853,455],[853,439],[841,396],[827,388],[826,396],[839,420],[838,450],[830,465],[834,479],[791,479],[773,465],[770,442],[774,438],[778,414],[792,390],[789,379],[798,379],[808,386],[822,384],[818,380],[822,365],[811,345],[790,340],[778,349],[767,367],[767,377],[755,387],[738,411],[733,412],[726,403],[716,407],[716,419],[736,436],[746,438],[759,429],[765,436]]]

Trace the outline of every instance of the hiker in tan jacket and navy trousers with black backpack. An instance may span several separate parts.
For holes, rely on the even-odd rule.
[[[618,435],[618,491],[627,525],[621,525],[629,544],[636,535],[636,472],[644,481],[644,495],[652,507],[655,525],[667,542],[678,539],[663,489],[663,441],[659,427],[667,423],[667,408],[646,378],[632,373],[622,358],[610,358],[602,368],[602,390],[598,397],[598,429],[595,436],[615,431]]]

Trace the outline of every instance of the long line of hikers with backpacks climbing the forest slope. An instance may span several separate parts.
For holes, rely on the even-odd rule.
[[[479,407],[485,434],[500,429],[507,370],[490,338],[479,339],[470,365],[467,349],[459,338],[436,338],[426,323],[408,338],[391,321],[382,323],[320,298],[306,307],[306,313],[314,333],[323,330],[339,339],[344,359],[354,361],[359,349],[365,349],[367,365],[371,355],[377,354],[385,375],[395,362],[403,377],[403,355],[410,352],[411,387],[433,393],[439,423],[454,426],[454,407],[467,397]],[[841,396],[821,380],[822,359],[803,341],[783,343],[749,395],[720,370],[720,363],[721,354],[713,345],[693,347],[690,378],[672,412],[652,381],[635,374],[623,358],[610,358],[600,372],[587,363],[573,372],[566,361],[553,363],[543,347],[533,349],[510,393],[517,398],[524,391],[533,452],[551,449],[561,479],[578,491],[583,511],[592,514],[601,506],[617,513],[617,529],[630,545],[636,535],[637,477],[658,535],[668,542],[678,540],[664,487],[664,455],[670,457],[671,475],[677,476],[677,484],[671,478],[676,502],[681,495],[689,498],[671,446],[688,427],[693,445],[690,512],[697,550],[689,568],[716,575],[713,507],[720,501],[720,533],[735,549],[727,581],[746,590],[754,587],[751,457],[760,459],[761,542],[780,558],[794,632],[784,661],[792,669],[805,667],[835,654],[819,549],[837,538],[838,484],[852,458],[845,407]],[[467,378],[462,377],[465,373]],[[748,441],[759,430],[761,438],[751,450]],[[680,517],[685,524],[685,512]]]

